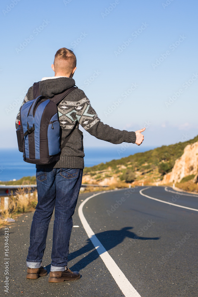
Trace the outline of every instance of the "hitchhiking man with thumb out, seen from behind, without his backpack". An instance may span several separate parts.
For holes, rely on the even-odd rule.
[[[72,50],[60,48],[55,55],[52,69],[54,77],[45,77],[39,82],[39,91],[43,96],[52,98],[75,85],[73,75],[76,70],[76,56]],[[33,97],[33,87],[28,89],[23,104]],[[53,246],[51,254],[51,269],[49,282],[64,282],[80,278],[79,272],[72,272],[67,268],[69,253],[69,239],[72,231],[72,216],[75,211],[79,195],[83,168],[84,150],[83,133],[78,129],[80,125],[91,135],[111,143],[136,143],[140,145],[144,139],[141,134],[145,130],[136,132],[114,129],[103,124],[89,99],[80,89],[69,93],[58,105],[60,121],[61,144],[67,135],[72,135],[61,150],[58,162],[48,165],[36,165],[38,204],[34,212],[31,231],[30,247],[28,250],[27,278],[37,279],[47,275],[42,267],[42,257],[45,251],[47,230],[53,210],[55,219],[53,227]],[[20,116],[16,119],[18,128]]]

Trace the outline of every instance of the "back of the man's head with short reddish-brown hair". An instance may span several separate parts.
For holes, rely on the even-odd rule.
[[[76,67],[76,56],[68,48],[60,48],[54,57],[55,73],[71,74]]]

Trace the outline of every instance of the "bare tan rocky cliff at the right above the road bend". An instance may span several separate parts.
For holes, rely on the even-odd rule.
[[[183,177],[197,174],[198,141],[185,147],[183,155],[176,159],[172,171],[166,174],[161,184],[180,182]]]

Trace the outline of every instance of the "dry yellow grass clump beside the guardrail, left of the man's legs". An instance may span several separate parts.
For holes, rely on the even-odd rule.
[[[9,205],[5,209],[1,206],[0,228],[6,225],[5,219],[15,219],[18,214],[33,211],[37,205],[37,191],[31,192],[30,189],[18,189],[15,195],[9,195]]]

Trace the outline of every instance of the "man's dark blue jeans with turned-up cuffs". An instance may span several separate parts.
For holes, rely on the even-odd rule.
[[[67,267],[72,216],[75,211],[83,169],[37,169],[38,204],[34,212],[27,266],[39,268],[45,251],[48,226],[55,207],[51,271],[64,271]]]

